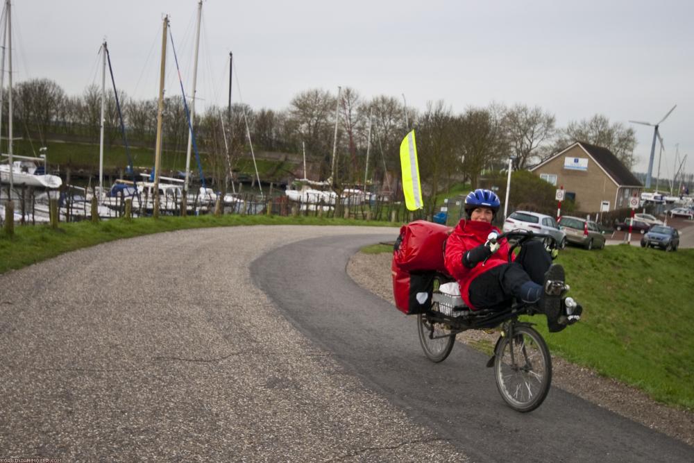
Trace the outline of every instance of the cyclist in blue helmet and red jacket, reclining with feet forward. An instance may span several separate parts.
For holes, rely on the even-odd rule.
[[[508,307],[513,297],[532,303],[547,316],[551,332],[566,328],[564,268],[552,264],[542,242],[530,240],[509,263],[507,242],[496,242],[500,230],[493,226],[499,210],[498,196],[477,189],[465,199],[466,219],[461,219],[446,241],[446,269],[460,286],[465,303],[474,309]],[[578,305],[574,315],[580,315]]]

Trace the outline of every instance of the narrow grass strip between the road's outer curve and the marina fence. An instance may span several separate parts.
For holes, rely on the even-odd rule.
[[[400,226],[384,221],[356,221],[323,217],[278,217],[266,215],[201,215],[198,217],[143,217],[126,221],[111,219],[92,224],[90,221],[60,224],[53,230],[47,225],[15,226],[7,237],[0,230],[0,273],[56,257],[68,251],[94,246],[115,239],[189,228],[241,225],[338,225]]]

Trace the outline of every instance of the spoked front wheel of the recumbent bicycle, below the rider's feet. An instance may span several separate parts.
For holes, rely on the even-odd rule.
[[[518,412],[531,412],[543,403],[552,382],[552,359],[545,340],[530,326],[515,326],[511,338],[496,348],[496,387]]]

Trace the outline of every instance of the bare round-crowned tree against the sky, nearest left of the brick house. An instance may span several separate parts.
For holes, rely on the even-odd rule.
[[[514,171],[525,169],[541,155],[543,144],[555,134],[555,117],[542,108],[518,104],[505,112],[502,124],[513,154]]]

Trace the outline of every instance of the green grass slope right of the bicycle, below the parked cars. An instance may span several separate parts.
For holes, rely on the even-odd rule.
[[[375,244],[362,251],[391,253],[392,246]],[[694,410],[694,249],[567,248],[557,262],[564,265],[570,295],[584,313],[559,333],[548,332],[539,317],[530,319],[550,351],[654,400]]]

